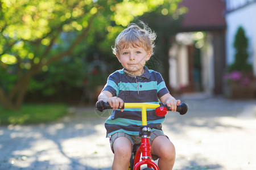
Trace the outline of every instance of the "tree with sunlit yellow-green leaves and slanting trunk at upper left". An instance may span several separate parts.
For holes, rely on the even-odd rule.
[[[19,109],[31,79],[47,71],[51,63],[72,57],[80,42],[98,28],[98,22],[107,22],[105,29],[114,35],[119,32],[119,25],[125,27],[134,16],[154,11],[163,2],[0,0],[2,106]],[[63,41],[67,36],[71,37],[69,41]]]

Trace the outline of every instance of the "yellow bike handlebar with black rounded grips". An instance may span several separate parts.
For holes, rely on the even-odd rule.
[[[167,111],[171,111],[169,107],[167,107],[166,104],[152,104],[152,103],[124,103],[122,109],[124,108],[150,108],[150,109],[156,109],[158,107],[164,107],[167,108]],[[112,109],[110,107],[108,102],[105,102],[103,100],[99,100],[96,103],[96,109],[100,112],[104,111],[105,109]],[[181,115],[187,113],[188,106],[185,103],[181,103],[177,106],[176,112],[179,112]]]

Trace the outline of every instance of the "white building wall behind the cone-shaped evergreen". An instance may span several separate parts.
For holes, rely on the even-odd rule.
[[[234,55],[236,53],[233,46],[234,38],[238,27],[242,26],[249,40],[249,62],[253,64],[254,75],[256,75],[256,2],[245,5],[246,2],[249,1],[243,0],[239,3],[238,1],[226,1],[227,10],[237,8],[226,14],[226,61],[227,65],[234,62]],[[241,4],[245,6],[241,6]],[[240,8],[239,5],[241,6]]]

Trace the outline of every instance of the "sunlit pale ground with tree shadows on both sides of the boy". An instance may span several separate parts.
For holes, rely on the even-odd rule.
[[[163,124],[176,147],[174,169],[256,169],[256,100],[179,98],[188,113],[170,112]],[[0,169],[111,169],[106,118],[92,107],[72,110],[51,124],[0,126]]]

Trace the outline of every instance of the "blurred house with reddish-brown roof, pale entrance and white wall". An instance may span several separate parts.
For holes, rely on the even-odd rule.
[[[234,60],[234,36],[242,25],[256,75],[256,0],[183,0],[187,7],[170,49],[170,86],[183,92],[223,94],[223,75]]]

